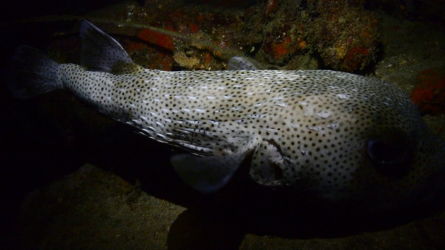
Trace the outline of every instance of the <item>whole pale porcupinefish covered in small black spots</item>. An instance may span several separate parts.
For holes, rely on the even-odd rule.
[[[445,143],[410,98],[377,78],[330,70],[165,72],[134,64],[96,26],[81,24],[81,65],[17,49],[15,97],[61,89],[159,142],[179,176],[215,192],[248,164],[253,181],[310,190],[328,201],[405,206],[442,192]],[[250,165],[249,165],[250,164]]]

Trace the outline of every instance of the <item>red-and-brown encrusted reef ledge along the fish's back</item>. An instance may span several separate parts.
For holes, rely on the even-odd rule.
[[[379,19],[364,10],[362,0],[250,1],[247,9],[231,11],[202,3],[207,7],[181,1],[120,3],[88,20],[126,40],[141,65],[159,69],[225,69],[232,56],[247,55],[265,68],[320,65],[357,72],[378,51]]]

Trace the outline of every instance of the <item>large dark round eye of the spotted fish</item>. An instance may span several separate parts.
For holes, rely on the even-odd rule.
[[[392,178],[401,178],[410,169],[414,147],[410,135],[396,130],[371,136],[367,154],[375,169]]]

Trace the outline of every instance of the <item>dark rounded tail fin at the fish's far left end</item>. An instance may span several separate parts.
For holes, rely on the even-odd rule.
[[[8,73],[8,87],[20,99],[62,88],[59,64],[38,49],[26,45],[16,49]]]

